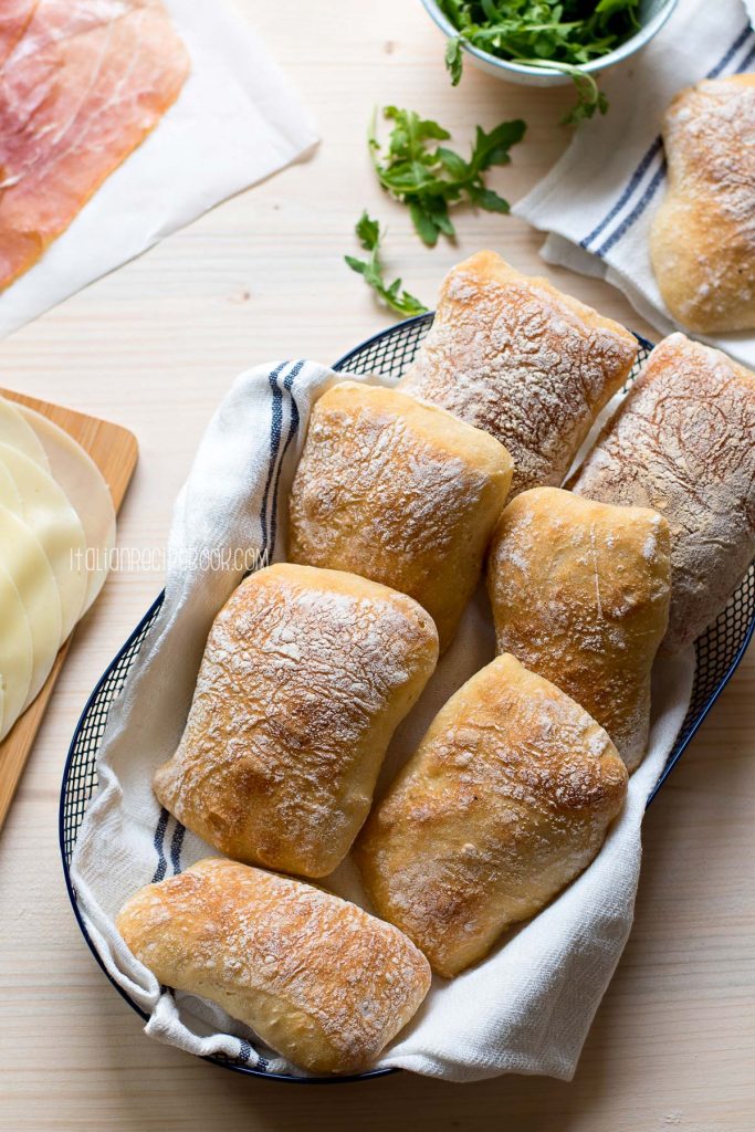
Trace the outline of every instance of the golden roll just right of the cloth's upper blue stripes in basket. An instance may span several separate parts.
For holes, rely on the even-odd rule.
[[[291,561],[410,594],[447,648],[512,479],[506,449],[403,393],[344,381],[312,410],[290,500]]]

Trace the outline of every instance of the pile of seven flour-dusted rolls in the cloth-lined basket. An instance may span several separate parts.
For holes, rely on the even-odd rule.
[[[306,1070],[369,1065],[431,969],[480,961],[587,867],[645,753],[659,648],[693,640],[749,564],[755,378],[680,335],[560,487],[636,351],[472,257],[398,388],[316,403],[289,561],[215,619],[154,788],[233,860],[143,889],[119,928],[161,983]],[[375,803],[486,559],[498,657]],[[352,847],[377,916],[295,878]]]

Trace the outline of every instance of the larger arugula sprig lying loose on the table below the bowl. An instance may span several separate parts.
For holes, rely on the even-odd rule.
[[[483,174],[494,165],[508,164],[511,147],[524,137],[523,121],[501,122],[489,134],[478,126],[466,161],[447,146],[431,144],[451,137],[437,122],[397,106],[386,106],[383,113],[394,125],[381,147],[372,121],[369,149],[375,172],[383,188],[409,207],[414,229],[429,248],[439,235],[455,237],[449,207],[456,204],[508,212],[508,203],[486,186]]]

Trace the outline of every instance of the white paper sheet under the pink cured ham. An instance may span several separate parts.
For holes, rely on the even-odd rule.
[[[70,228],[0,294],[0,337],[317,143],[309,114],[231,0],[164,3],[191,58],[183,89]]]

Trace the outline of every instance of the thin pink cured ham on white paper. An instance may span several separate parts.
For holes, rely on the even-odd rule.
[[[157,0],[40,0],[0,69],[0,289],[154,129],[188,71]]]

